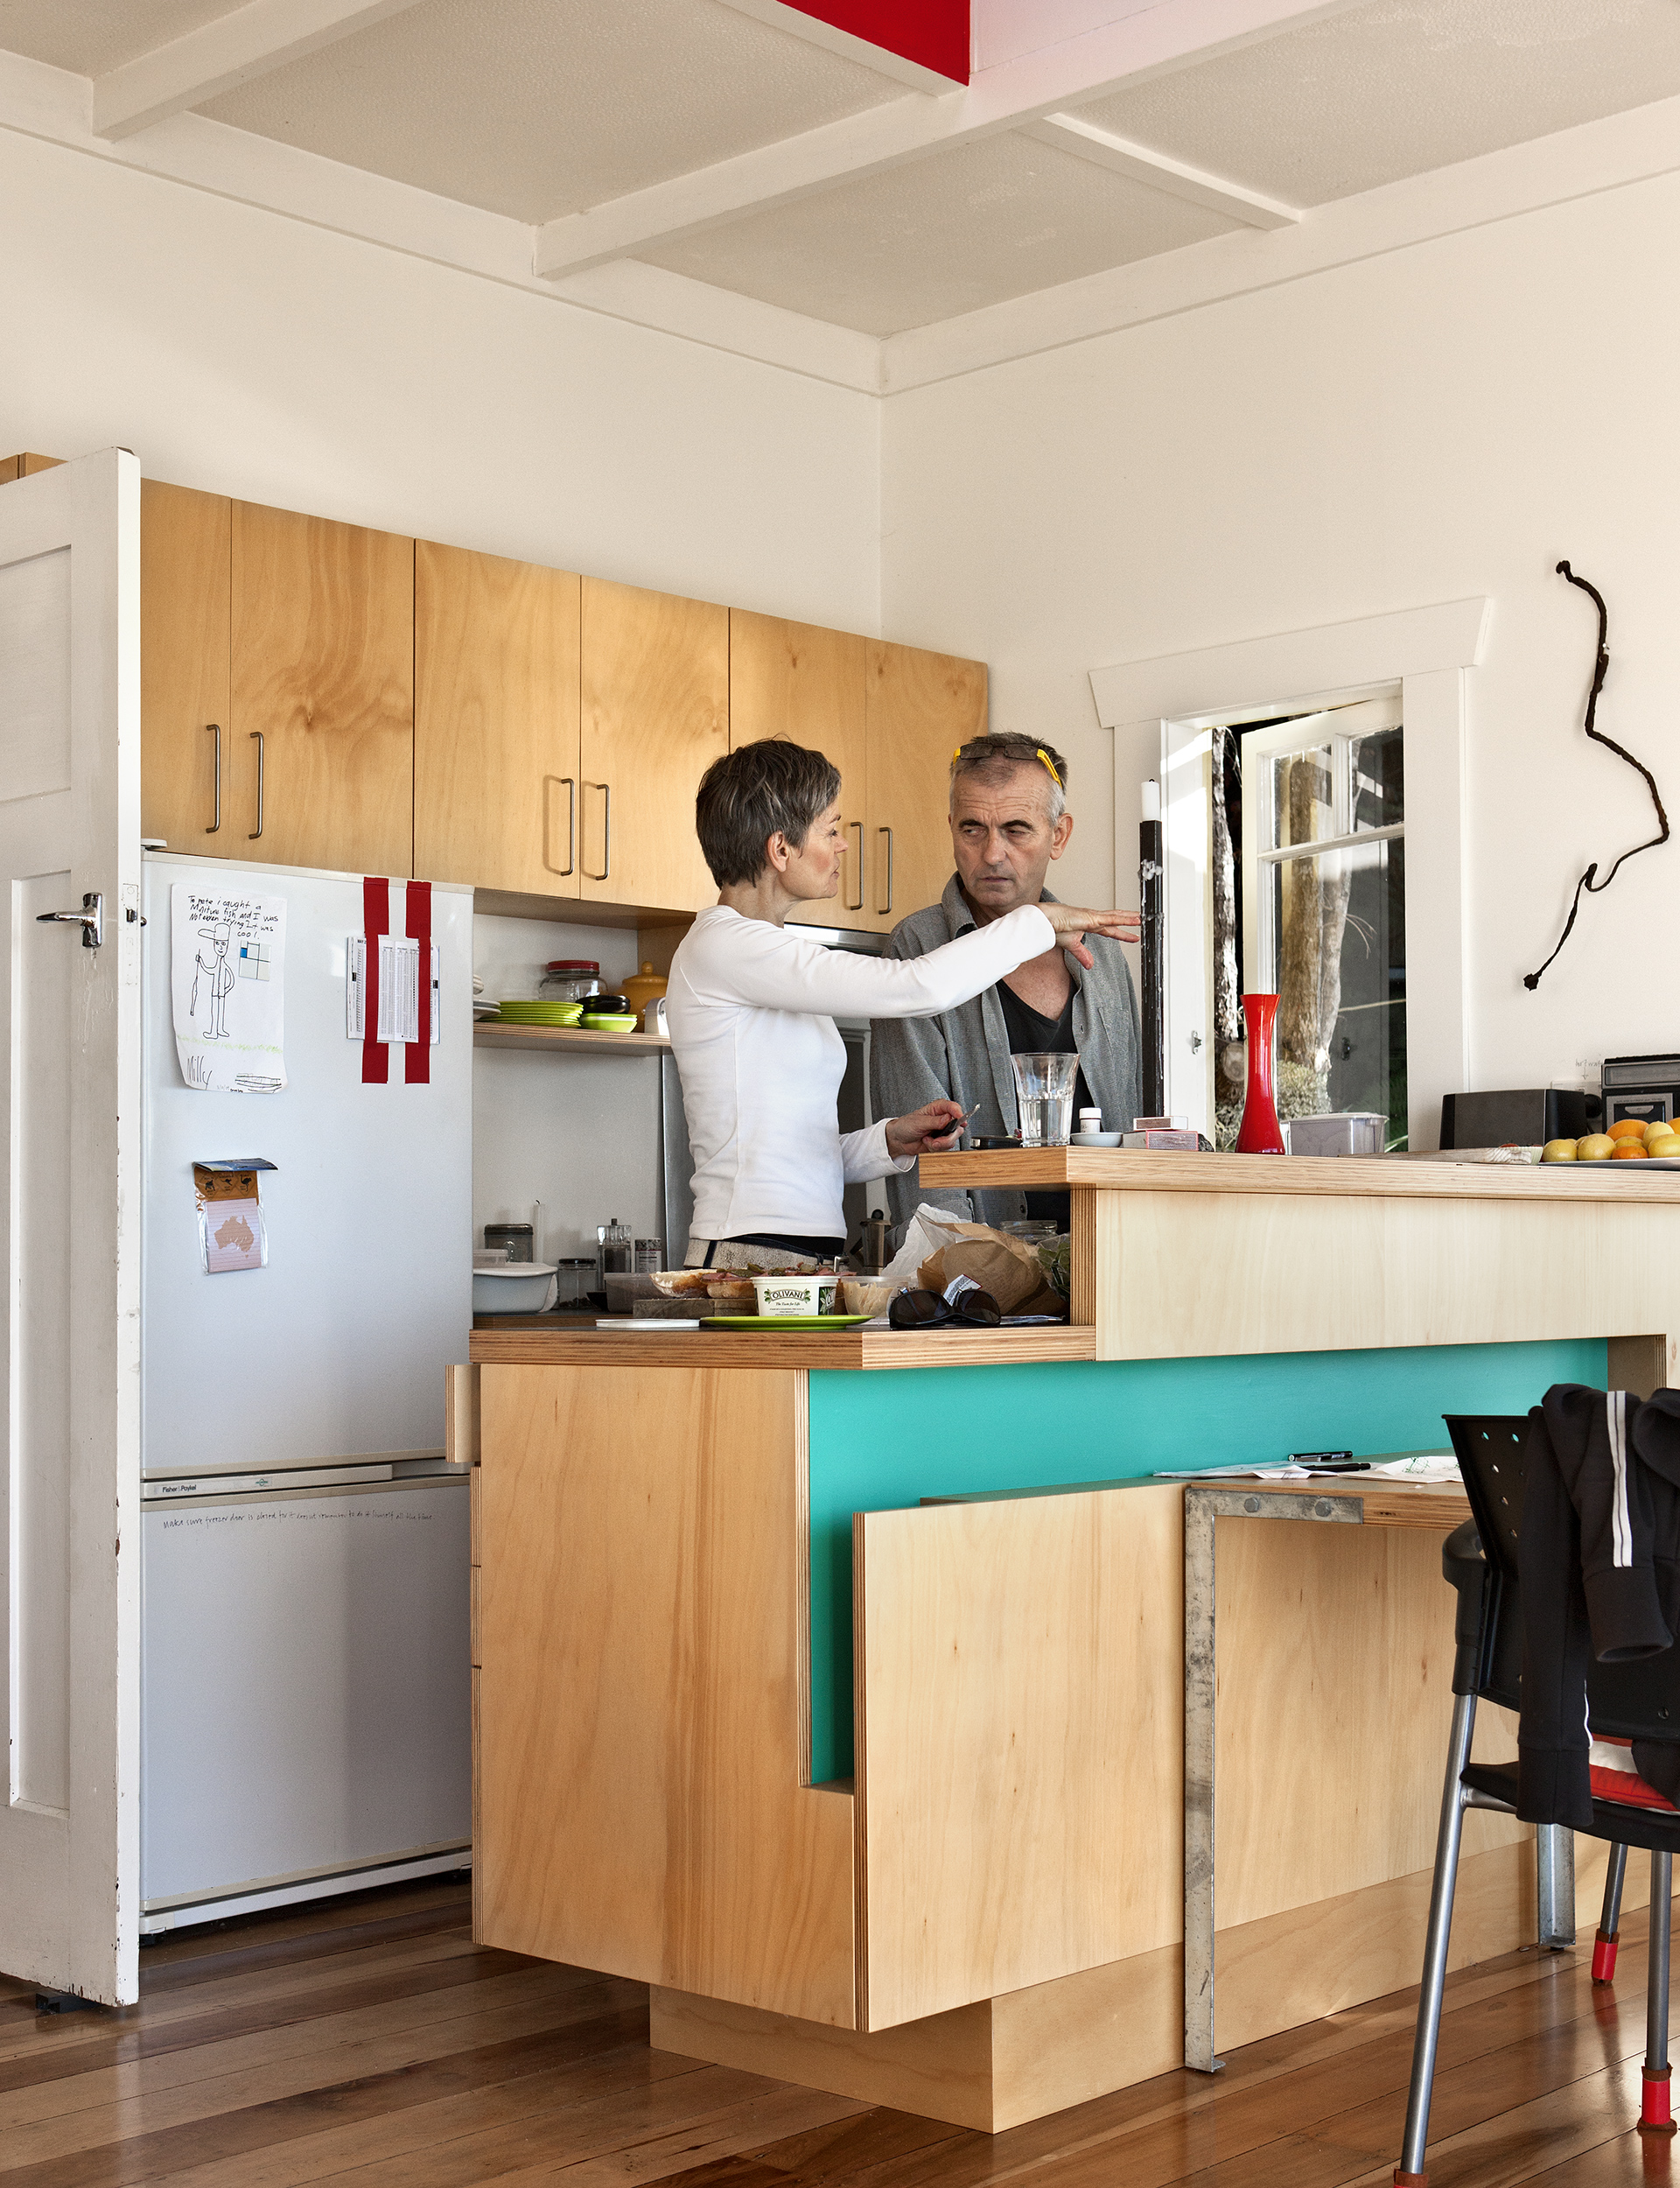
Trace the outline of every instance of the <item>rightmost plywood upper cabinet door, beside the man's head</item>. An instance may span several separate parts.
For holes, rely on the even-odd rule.
[[[868,641],[868,923],[938,904],[952,877],[952,753],[987,726],[987,665]]]

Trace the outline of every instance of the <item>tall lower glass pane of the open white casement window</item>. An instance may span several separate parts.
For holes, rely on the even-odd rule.
[[[1278,936],[1278,1114],[1376,1109],[1389,1120],[1385,1144],[1402,1149],[1404,838],[1284,860],[1267,886]]]

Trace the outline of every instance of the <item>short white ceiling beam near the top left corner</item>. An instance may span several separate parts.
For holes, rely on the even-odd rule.
[[[416,0],[245,0],[230,15],[94,77],[94,136],[112,142],[319,53]]]

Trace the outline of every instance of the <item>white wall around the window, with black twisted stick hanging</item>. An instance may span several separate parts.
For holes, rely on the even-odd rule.
[[[1113,858],[1089,667],[1488,593],[1470,1083],[1680,1048],[1680,840],[1588,899],[1522,989],[1582,864],[1654,831],[1643,783],[1579,733],[1595,624],[1560,556],[1610,602],[1599,726],[1680,823],[1676,263],[1662,177],[886,405],[884,630],[987,656],[993,726],[1068,750],[1061,895],[1107,897],[1135,858]]]

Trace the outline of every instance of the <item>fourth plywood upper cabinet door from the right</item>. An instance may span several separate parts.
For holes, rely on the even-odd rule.
[[[578,617],[564,569],[413,549],[413,871],[575,897]]]

